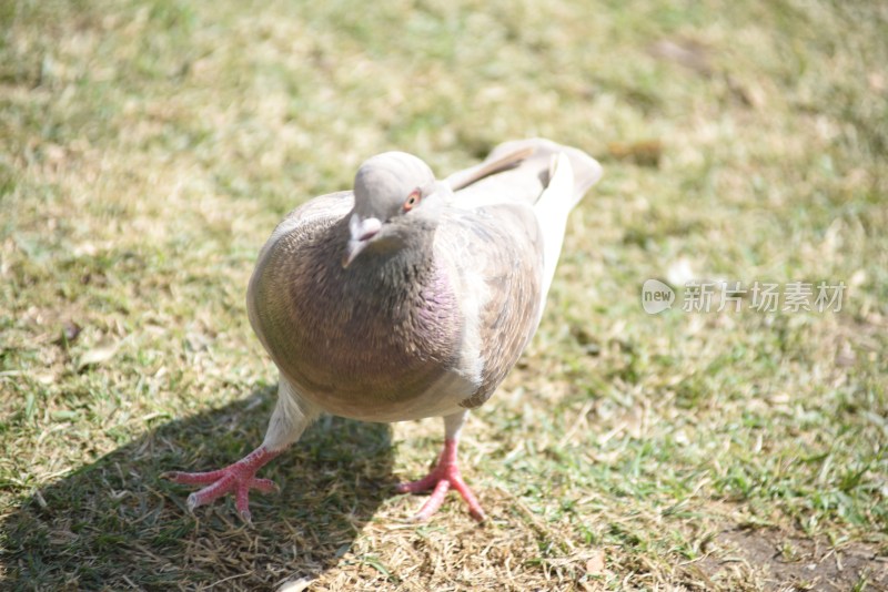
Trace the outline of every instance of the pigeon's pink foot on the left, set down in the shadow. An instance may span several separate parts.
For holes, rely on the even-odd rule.
[[[263,493],[278,491],[274,481],[258,479],[256,471],[280,453],[270,452],[265,450],[265,447],[260,446],[234,465],[229,465],[218,471],[170,471],[161,477],[185,486],[208,486],[188,497],[189,511],[194,511],[195,508],[205,506],[225,493],[234,493],[234,507],[238,508],[238,513],[241,514],[244,522],[250,523],[250,490],[258,489]]]

